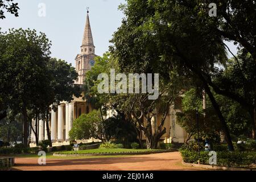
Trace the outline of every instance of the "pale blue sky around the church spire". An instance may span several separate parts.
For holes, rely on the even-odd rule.
[[[112,35],[121,26],[123,13],[118,10],[125,0],[15,0],[19,3],[19,17],[6,14],[0,21],[1,31],[9,28],[30,28],[44,32],[52,41],[52,57],[63,59],[75,65],[75,57],[80,53],[86,20],[86,7],[89,7],[96,55],[108,51]],[[42,4],[43,3],[43,4]],[[45,16],[43,9],[45,8]],[[42,16],[43,15],[43,16]],[[226,43],[234,54],[236,47]],[[230,55],[230,54],[229,54]]]

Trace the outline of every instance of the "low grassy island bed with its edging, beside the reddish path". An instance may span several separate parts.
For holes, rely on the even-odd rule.
[[[92,150],[82,151],[65,151],[55,152],[54,156],[73,156],[73,155],[141,155],[141,154],[156,154],[162,152],[173,152],[177,150],[147,150],[147,149],[127,149],[127,148],[97,148]]]

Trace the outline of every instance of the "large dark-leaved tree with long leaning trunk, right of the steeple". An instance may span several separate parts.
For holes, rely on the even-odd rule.
[[[225,63],[224,44],[220,36],[212,35],[209,28],[205,30],[195,11],[184,4],[195,6],[196,2],[127,1],[127,5],[121,6],[126,18],[114,34],[112,52],[123,69],[136,65],[169,78],[166,75],[176,68],[180,75],[197,80],[217,112],[229,150],[234,150],[225,118],[207,80],[215,71],[214,65]]]

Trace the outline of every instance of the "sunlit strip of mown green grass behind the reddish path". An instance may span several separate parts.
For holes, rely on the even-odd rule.
[[[124,152],[150,152],[159,150],[147,150],[147,149],[127,149],[127,148],[96,148],[90,150],[80,150],[77,154],[104,154],[104,153],[124,153]],[[56,154],[76,154],[75,151],[55,152]]]

